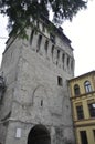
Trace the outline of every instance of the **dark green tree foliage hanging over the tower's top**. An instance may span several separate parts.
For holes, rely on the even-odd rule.
[[[24,27],[31,25],[31,17],[49,18],[49,11],[52,9],[53,22],[61,24],[66,19],[72,20],[73,16],[86,6],[85,0],[1,0],[0,13],[9,17],[8,29],[13,29],[14,34],[22,31],[25,35]]]

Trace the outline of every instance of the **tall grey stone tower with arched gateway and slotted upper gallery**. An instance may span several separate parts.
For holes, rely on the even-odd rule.
[[[0,99],[1,144],[72,144],[67,80],[74,75],[71,41],[45,18],[28,40],[10,35],[3,52]]]

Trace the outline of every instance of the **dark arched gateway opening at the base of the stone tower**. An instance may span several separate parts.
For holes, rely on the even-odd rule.
[[[35,125],[28,135],[28,144],[51,144],[50,132],[44,125]]]

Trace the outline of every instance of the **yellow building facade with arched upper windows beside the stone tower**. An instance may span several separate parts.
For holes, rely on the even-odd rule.
[[[76,144],[95,144],[95,71],[68,81]]]

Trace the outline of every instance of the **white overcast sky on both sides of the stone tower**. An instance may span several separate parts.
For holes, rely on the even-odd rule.
[[[75,76],[95,70],[95,1],[88,2],[72,22],[63,23],[64,33],[72,40],[75,58]],[[0,61],[8,38],[7,18],[0,16]]]

